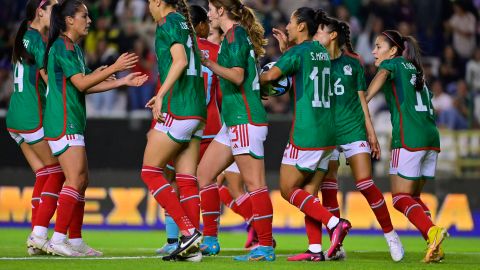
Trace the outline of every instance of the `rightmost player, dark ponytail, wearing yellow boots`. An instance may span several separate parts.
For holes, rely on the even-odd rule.
[[[367,90],[367,101],[383,90],[392,115],[390,181],[393,206],[402,212],[427,241],[425,262],[443,259],[440,245],[447,230],[424,212],[419,195],[425,181],[435,177],[440,137],[435,125],[431,93],[425,85],[420,49],[415,38],[394,30],[375,40],[378,72]]]

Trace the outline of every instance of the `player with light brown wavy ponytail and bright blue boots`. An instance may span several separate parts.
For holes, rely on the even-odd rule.
[[[257,71],[257,58],[265,53],[264,29],[253,11],[239,0],[209,1],[208,16],[211,27],[219,27],[225,33],[218,63],[209,59],[203,62],[220,77],[221,114],[225,123],[198,166],[204,234],[209,244],[218,245],[220,198],[216,178],[235,160],[250,193],[253,226],[260,242],[258,248],[235,260],[273,261],[273,209],[263,160],[267,119],[260,100]]]

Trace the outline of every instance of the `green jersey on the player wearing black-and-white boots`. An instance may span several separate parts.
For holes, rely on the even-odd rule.
[[[196,38],[189,35],[187,21],[180,13],[169,13],[157,26],[155,33],[155,52],[157,55],[160,82],[167,78],[172,65],[170,48],[178,43],[183,45],[187,54],[187,68],[175,84],[163,97],[162,112],[177,119],[200,119],[205,121],[205,89],[200,56],[196,52]]]

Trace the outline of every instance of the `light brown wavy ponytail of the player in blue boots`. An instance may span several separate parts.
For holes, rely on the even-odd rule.
[[[265,55],[267,39],[265,39],[265,29],[258,21],[253,10],[245,6],[240,0],[209,0],[216,8],[223,7],[227,12],[228,18],[240,22],[247,30],[248,37],[252,41],[255,55],[262,57]]]

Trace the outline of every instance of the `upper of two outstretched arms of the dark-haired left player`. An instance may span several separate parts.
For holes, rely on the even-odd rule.
[[[80,92],[88,92],[88,89],[105,81],[112,74],[133,68],[138,62],[138,56],[133,53],[124,53],[117,61],[107,68],[90,74],[77,73],[70,77],[70,81]]]

